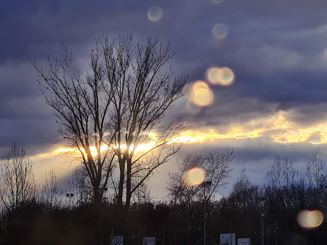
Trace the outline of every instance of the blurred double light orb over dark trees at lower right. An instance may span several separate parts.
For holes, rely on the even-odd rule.
[[[321,225],[323,214],[319,210],[302,210],[297,214],[296,220],[304,229],[314,229]]]

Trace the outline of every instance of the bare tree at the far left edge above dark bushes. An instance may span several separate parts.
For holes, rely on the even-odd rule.
[[[16,142],[0,161],[0,198],[7,211],[35,199],[32,166],[33,161],[26,155],[25,147]]]

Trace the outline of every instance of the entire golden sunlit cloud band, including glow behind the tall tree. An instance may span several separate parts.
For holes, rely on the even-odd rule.
[[[203,88],[205,85],[197,85],[196,87]],[[196,88],[197,89],[197,88]],[[256,119],[243,121],[240,123],[232,123],[227,129],[226,125],[216,127],[199,127],[192,128],[182,135],[179,135],[167,144],[202,144],[209,143],[216,140],[244,140],[244,139],[262,139],[266,142],[280,143],[280,144],[296,144],[296,143],[309,143],[312,145],[327,144],[327,120],[321,121],[315,125],[303,126],[295,121],[288,120],[292,118],[294,111],[279,110],[274,114],[259,117]],[[222,130],[223,129],[223,130]],[[220,133],[223,132],[223,133]],[[136,147],[135,153],[144,152],[156,147],[158,135],[150,132],[148,134],[149,141],[140,144]],[[113,146],[115,148],[115,146]],[[107,150],[107,146],[101,146],[100,151]],[[126,145],[121,145],[121,149],[126,150]],[[130,150],[133,145],[130,146]],[[84,150],[82,150],[84,152]],[[97,155],[96,148],[90,147],[92,156]],[[59,147],[58,149],[38,154],[33,156],[35,160],[51,158],[53,156],[72,153],[80,154],[77,148]]]

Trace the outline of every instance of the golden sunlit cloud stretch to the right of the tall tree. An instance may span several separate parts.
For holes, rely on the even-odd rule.
[[[210,129],[191,129],[171,142],[197,144],[215,140],[258,138],[281,144],[327,144],[327,121],[311,126],[301,126],[295,121],[287,119],[292,113],[293,111],[280,110],[269,116],[243,121],[242,123],[232,123],[228,130],[221,130],[219,126]],[[219,133],[220,131],[224,131],[224,133]]]

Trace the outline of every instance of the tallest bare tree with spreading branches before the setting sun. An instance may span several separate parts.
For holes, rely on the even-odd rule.
[[[59,120],[62,139],[79,152],[95,202],[100,202],[97,191],[107,185],[117,162],[118,204],[125,201],[128,209],[138,186],[180,148],[167,143],[182,132],[184,122],[163,119],[183,95],[187,76],[174,78],[172,68],[165,70],[175,53],[170,43],[163,46],[157,39],[134,43],[131,35],[119,35],[112,42],[99,37],[85,72],[72,69],[75,57],[67,44],[61,45],[62,58],[51,60],[47,55],[46,71],[33,64],[42,78],[44,101]],[[139,150],[148,143],[147,149]]]

